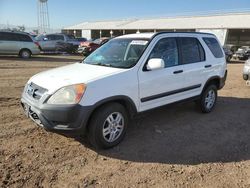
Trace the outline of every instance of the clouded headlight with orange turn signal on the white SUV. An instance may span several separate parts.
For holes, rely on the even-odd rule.
[[[48,104],[77,104],[86,89],[85,84],[66,86],[55,92],[48,100]]]

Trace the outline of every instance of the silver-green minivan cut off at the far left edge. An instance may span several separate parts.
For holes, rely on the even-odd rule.
[[[0,54],[30,58],[40,54],[40,46],[28,33],[0,31]]]

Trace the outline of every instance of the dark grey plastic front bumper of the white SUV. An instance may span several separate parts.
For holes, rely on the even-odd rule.
[[[21,105],[26,116],[40,127],[52,132],[74,135],[84,134],[92,112],[91,107],[79,104],[50,105],[44,101],[38,102],[25,93],[22,95]]]

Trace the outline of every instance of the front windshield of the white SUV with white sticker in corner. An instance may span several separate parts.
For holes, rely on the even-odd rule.
[[[113,39],[90,54],[83,63],[131,68],[141,57],[148,39]]]

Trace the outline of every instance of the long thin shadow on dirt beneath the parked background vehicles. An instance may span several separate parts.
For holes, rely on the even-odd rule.
[[[66,57],[66,58],[64,58]],[[40,62],[78,62],[82,61],[83,57],[82,56],[70,56],[70,55],[35,55],[32,56],[29,59],[23,59],[18,56],[0,56],[0,60],[13,60],[13,61],[40,61]]]

